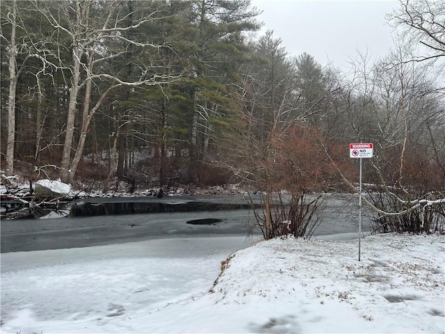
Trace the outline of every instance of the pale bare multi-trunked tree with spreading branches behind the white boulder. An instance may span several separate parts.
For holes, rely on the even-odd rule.
[[[124,32],[138,29],[147,22],[161,18],[162,3],[154,3],[154,7],[140,3],[140,8],[135,8],[131,13],[125,10],[124,1],[96,1],[76,0],[41,2],[35,1],[35,9],[47,19],[47,22],[60,31],[60,35],[67,36],[70,40],[71,62],[63,65],[62,59],[58,59],[56,67],[69,71],[70,97],[68,103],[67,122],[65,129],[65,143],[60,164],[60,178],[65,182],[72,182],[82,157],[86,135],[92,117],[95,115],[105,97],[116,88],[127,86],[137,87],[143,85],[168,84],[174,77],[159,76],[150,65],[140,63],[139,77],[134,81],[126,81],[119,75],[102,71],[101,64],[120,58],[127,54],[129,45],[139,48],[159,49],[163,45],[147,42],[139,42],[125,37]],[[150,3],[148,3],[149,5]],[[56,15],[57,8],[57,15]],[[131,15],[130,24],[127,17]],[[113,46],[120,45],[115,48]],[[127,45],[127,47],[125,47]],[[63,48],[63,45],[58,46]],[[100,83],[100,84],[99,84]],[[103,86],[104,83],[106,86]],[[93,86],[102,86],[99,99],[92,103],[91,92]],[[79,94],[84,92],[83,99]],[[75,118],[78,104],[83,104],[83,116],[79,141],[74,144],[75,153],[72,157],[74,143]]]

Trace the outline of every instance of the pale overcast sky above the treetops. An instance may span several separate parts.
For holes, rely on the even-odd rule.
[[[261,33],[273,30],[288,54],[307,52],[323,65],[344,70],[357,49],[378,58],[393,45],[385,15],[398,6],[396,0],[252,0],[252,5],[263,10]]]

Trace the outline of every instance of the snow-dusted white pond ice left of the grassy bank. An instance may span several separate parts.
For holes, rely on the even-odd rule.
[[[177,238],[1,254],[1,320],[111,321],[211,287],[245,237]],[[122,315],[122,313],[121,313]]]

